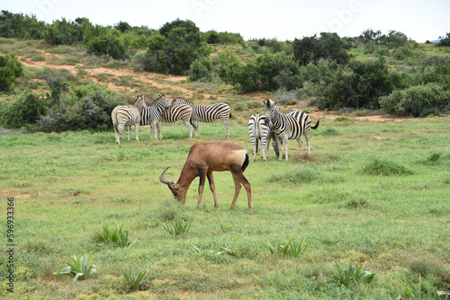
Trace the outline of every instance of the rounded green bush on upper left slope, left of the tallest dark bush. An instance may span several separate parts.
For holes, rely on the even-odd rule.
[[[95,55],[109,55],[114,59],[128,57],[127,47],[118,34],[100,35],[90,40],[86,45],[86,52]]]

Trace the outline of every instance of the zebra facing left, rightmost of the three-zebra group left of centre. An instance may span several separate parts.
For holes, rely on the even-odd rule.
[[[215,119],[221,119],[223,125],[225,126],[225,138],[229,137],[229,121],[231,118],[231,110],[229,105],[226,103],[215,103],[210,105],[196,105],[193,101],[187,99],[176,97],[174,99],[174,104],[187,104],[193,108],[193,119],[192,124],[195,128],[195,137],[199,136],[198,132],[198,122],[211,123]]]

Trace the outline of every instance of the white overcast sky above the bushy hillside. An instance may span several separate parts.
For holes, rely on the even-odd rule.
[[[0,9],[32,13],[48,23],[86,17],[101,25],[122,21],[151,29],[179,18],[200,31],[238,32],[244,40],[294,40],[322,31],[355,37],[374,29],[425,42],[450,32],[450,0],[0,0]]]

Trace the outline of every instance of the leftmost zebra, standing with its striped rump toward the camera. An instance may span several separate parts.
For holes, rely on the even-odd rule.
[[[142,108],[147,104],[142,101]],[[131,105],[116,106],[111,113],[112,124],[114,125],[115,143],[121,144],[120,137],[125,138],[125,126],[128,128],[128,140],[130,140],[130,127],[134,125],[136,140],[139,142],[138,131],[140,122],[140,111]]]

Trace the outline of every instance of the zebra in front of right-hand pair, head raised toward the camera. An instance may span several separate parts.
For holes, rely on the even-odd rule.
[[[299,154],[302,151],[302,134],[304,134],[306,143],[308,144],[308,154],[311,154],[311,142],[310,131],[312,129],[319,128],[320,120],[316,125],[311,127],[310,117],[303,111],[293,111],[288,114],[284,114],[282,110],[276,105],[278,101],[263,101],[266,106],[266,121],[271,121],[273,124],[273,130],[276,136],[278,147],[281,150],[282,142],[284,144],[284,155],[286,161],[287,155],[287,141],[288,139],[296,139],[299,143]],[[278,160],[283,159],[283,152],[280,151]]]

